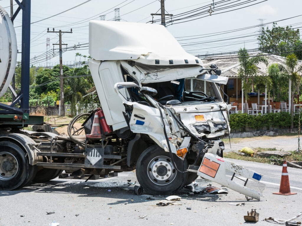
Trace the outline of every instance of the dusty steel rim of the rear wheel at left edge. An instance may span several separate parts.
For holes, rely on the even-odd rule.
[[[18,161],[11,153],[0,153],[0,179],[9,180],[18,172]]]

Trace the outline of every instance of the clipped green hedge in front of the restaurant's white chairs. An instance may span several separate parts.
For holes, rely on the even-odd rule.
[[[302,124],[302,113],[300,114]],[[272,129],[288,129],[291,126],[291,115],[289,112],[277,112],[268,114],[248,115],[231,114],[230,127],[232,132],[246,132]],[[299,126],[299,114],[294,115],[294,128]]]

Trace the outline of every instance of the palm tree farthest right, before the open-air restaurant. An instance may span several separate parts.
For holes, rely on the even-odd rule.
[[[289,80],[289,87],[291,88],[291,128],[294,128],[294,93],[299,89],[301,82],[302,65],[298,65],[298,58],[296,54],[289,54],[285,59],[285,65],[278,64],[279,70],[283,76]]]

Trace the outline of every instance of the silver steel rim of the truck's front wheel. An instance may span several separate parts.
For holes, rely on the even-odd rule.
[[[177,171],[171,158],[157,156],[149,162],[147,174],[149,179],[156,185],[167,185],[175,179]]]

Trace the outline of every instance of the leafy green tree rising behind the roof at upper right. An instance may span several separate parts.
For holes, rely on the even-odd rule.
[[[277,23],[273,23],[271,30],[268,27],[266,29],[262,27],[257,39],[259,40],[259,50],[264,53],[277,54],[301,50],[300,31],[299,29],[294,30],[291,26],[277,27]],[[287,53],[280,55],[287,56]],[[302,51],[298,51],[297,55],[302,57]]]

